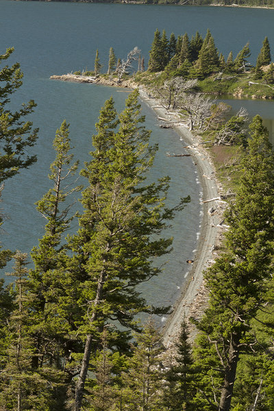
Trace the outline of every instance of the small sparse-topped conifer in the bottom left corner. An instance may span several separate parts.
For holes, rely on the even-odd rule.
[[[6,329],[8,347],[1,370],[1,406],[4,410],[57,411],[55,388],[62,382],[62,375],[54,369],[41,371],[32,365],[34,338],[27,304],[27,255],[17,251],[14,260],[11,275],[16,277],[15,299]]]

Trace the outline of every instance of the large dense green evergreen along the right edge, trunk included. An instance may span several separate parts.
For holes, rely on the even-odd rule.
[[[272,271],[274,155],[260,116],[250,129],[236,200],[225,213],[227,251],[205,275],[210,308],[199,324],[219,360],[221,411],[231,406],[240,353],[256,349],[251,319],[266,303]]]

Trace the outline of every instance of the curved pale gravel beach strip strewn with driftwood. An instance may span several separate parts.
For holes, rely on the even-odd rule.
[[[155,115],[159,118],[166,118],[168,121],[176,120],[174,114],[170,114],[164,108],[157,105],[155,99],[151,99],[143,88],[139,88],[140,98],[149,105]],[[180,297],[175,302],[173,312],[169,314],[164,325],[163,343],[171,349],[177,336],[179,335],[182,320],[185,318],[190,328],[190,338],[195,336],[195,327],[189,324],[190,316],[201,316],[206,307],[207,292],[203,286],[203,271],[214,262],[216,257],[217,242],[221,242],[223,210],[225,201],[221,200],[222,187],[216,180],[216,172],[208,151],[201,145],[201,138],[194,136],[188,131],[185,125],[173,127],[182,142],[187,145],[188,152],[192,156],[193,162],[197,166],[199,182],[203,189],[202,199],[208,201],[219,197],[214,201],[201,202],[203,208],[203,219],[201,222],[201,234],[198,241],[196,260],[192,269],[188,273],[185,284],[182,286]],[[214,209],[214,212],[210,210]],[[205,301],[206,299],[206,301]]]

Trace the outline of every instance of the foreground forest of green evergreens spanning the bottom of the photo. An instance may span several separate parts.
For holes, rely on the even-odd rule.
[[[207,36],[203,44],[212,45]],[[152,50],[148,72],[154,73]],[[23,82],[20,65],[5,64],[12,51],[0,56],[5,185],[22,169],[31,170],[36,155],[29,152],[38,138],[38,129],[25,118],[34,101],[10,110]],[[185,95],[191,99],[187,88],[182,95],[171,88],[172,104],[176,98],[184,116]],[[169,308],[150,306],[136,286],[160,274],[157,258],[172,247],[172,238],[162,232],[190,199],[167,208],[169,177],[147,182],[158,147],[149,144],[138,91],[129,94],[120,113],[112,98],[101,108],[90,161],[79,171],[86,188],[77,185],[69,124],[60,125],[49,165],[51,188],[36,203],[45,217],[45,234],[29,256],[0,253],[2,269],[14,261],[9,273],[14,281],[5,285],[2,280],[0,292],[1,411],[274,409],[274,153],[260,116],[247,126],[241,113],[224,120],[223,112],[212,101],[201,129],[213,130],[211,145],[228,144],[238,153],[232,164],[235,197],[224,216],[229,230],[204,274],[208,308],[201,319],[190,319],[197,328],[195,341],[190,343],[182,318],[172,355],[155,322]],[[191,123],[200,127],[198,114]],[[81,193],[83,208],[76,214],[74,192]],[[67,234],[73,219],[79,229]],[[145,323],[137,320],[140,313],[146,314]]]

